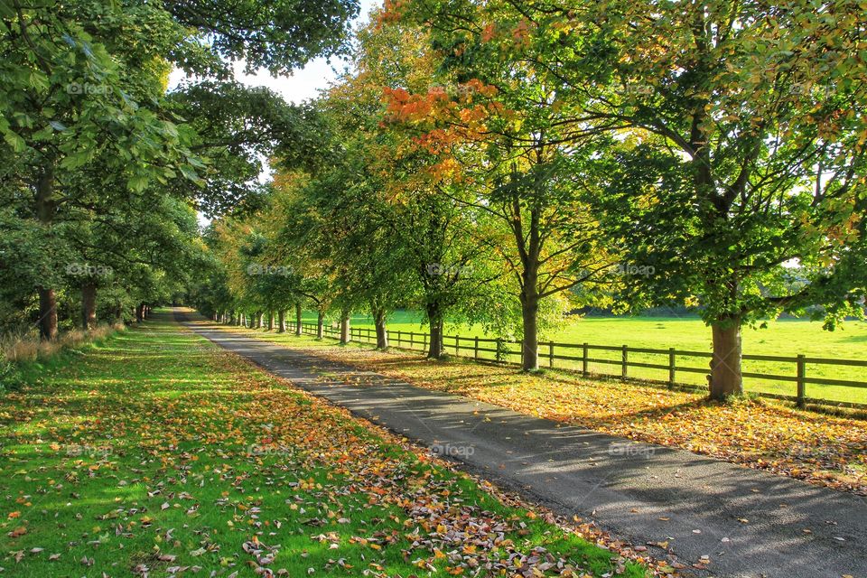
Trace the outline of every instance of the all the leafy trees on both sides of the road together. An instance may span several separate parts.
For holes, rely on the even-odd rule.
[[[854,0],[402,0],[352,37],[348,0],[2,6],[0,291],[46,339],[72,291],[88,325],[97,290],[126,311],[182,287],[344,340],[369,312],[380,348],[418,308],[433,358],[478,322],[534,371],[567,312],[668,305],[707,324],[722,398],[742,327],[862,315]],[[232,78],[321,55],[348,64],[301,105]]]

